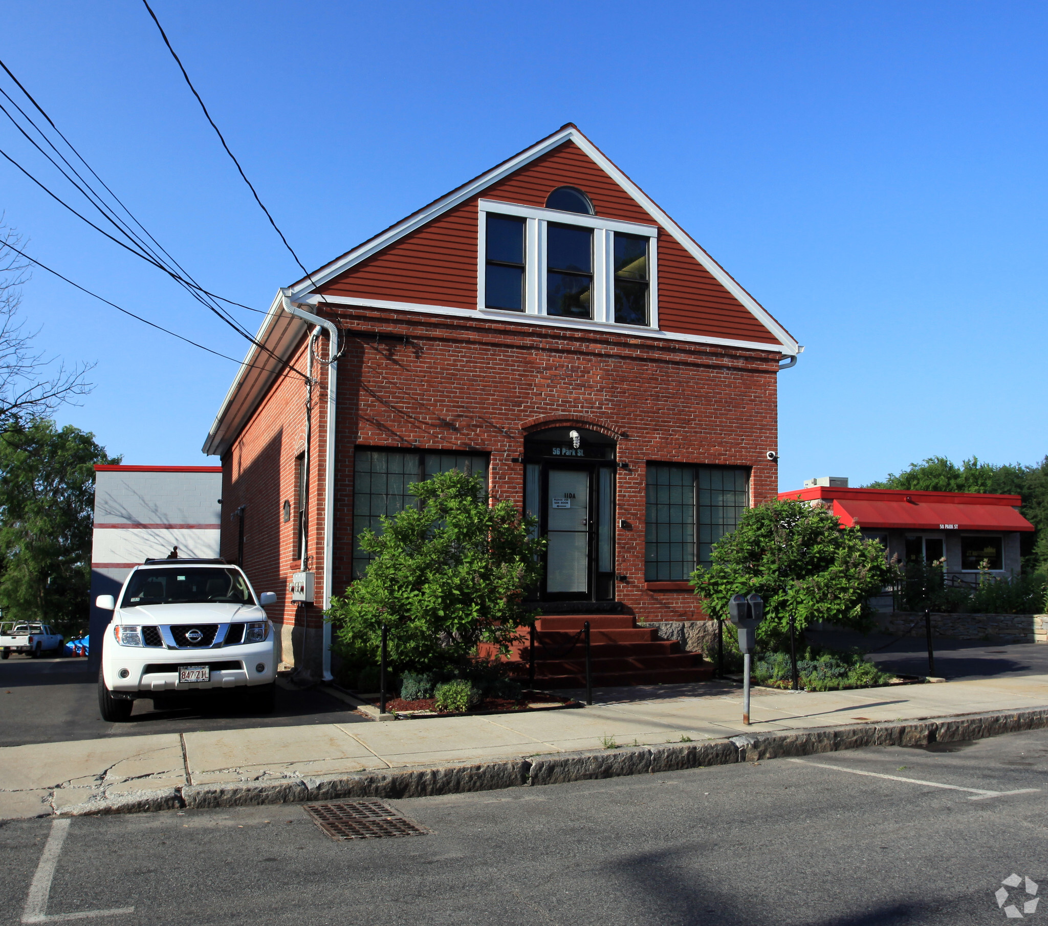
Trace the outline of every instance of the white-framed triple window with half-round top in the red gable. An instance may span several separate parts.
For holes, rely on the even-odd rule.
[[[560,187],[547,202],[565,191],[585,196]],[[478,206],[479,309],[556,324],[658,328],[657,225],[494,199]]]

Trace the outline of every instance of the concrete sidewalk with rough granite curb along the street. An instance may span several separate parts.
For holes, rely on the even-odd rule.
[[[593,694],[592,707],[573,710],[6,747],[0,749],[0,819],[381,796],[383,788],[484,790],[570,780],[563,770],[572,757],[582,762],[582,771],[571,773],[575,777],[605,777],[669,768],[664,758],[663,765],[651,758],[654,747],[669,756],[667,744],[702,748],[679,746],[672,759],[677,768],[738,761],[737,753],[742,750],[746,758],[745,745],[754,745],[733,742],[739,734],[773,739],[773,734],[828,731],[802,737],[808,751],[820,752],[887,741],[888,735],[923,735],[926,741],[930,725],[898,722],[1008,714],[1012,725],[1048,726],[1048,674],[843,692],[757,688],[749,727],[742,725],[742,689],[736,685],[609,688]],[[1038,708],[1046,709],[1043,715],[1030,711]],[[1025,712],[1025,719],[1017,722],[1017,711]],[[978,729],[1012,728],[983,723]],[[894,732],[886,733],[889,729]],[[960,729],[955,725],[940,738],[968,735],[961,736]],[[631,759],[634,754],[648,758]],[[613,757],[619,770],[611,770],[604,756]],[[554,766],[561,771],[550,771]],[[543,775],[537,774],[540,767]],[[414,783],[405,784],[403,773],[411,773]],[[391,784],[394,779],[400,783]]]

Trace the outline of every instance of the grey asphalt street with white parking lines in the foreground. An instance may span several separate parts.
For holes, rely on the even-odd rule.
[[[292,804],[15,820],[0,926],[1003,923],[1002,881],[1019,911],[1048,890],[1046,770],[1038,731],[393,800],[432,831],[401,838]]]

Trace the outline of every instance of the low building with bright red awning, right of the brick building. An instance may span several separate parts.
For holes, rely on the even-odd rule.
[[[971,582],[986,562],[998,575],[1019,573],[1020,534],[1033,525],[1020,513],[1018,495],[849,489],[839,476],[809,479],[804,489],[780,492],[832,507],[846,527],[879,540],[900,562],[932,563],[945,557],[947,575]]]

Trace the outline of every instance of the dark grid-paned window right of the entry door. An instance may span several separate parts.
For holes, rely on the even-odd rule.
[[[648,464],[645,579],[686,580],[749,504],[749,470]]]

